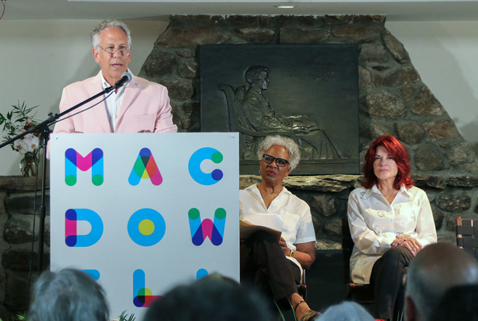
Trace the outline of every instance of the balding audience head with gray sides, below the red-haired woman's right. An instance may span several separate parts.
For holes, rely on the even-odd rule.
[[[449,243],[424,247],[407,272],[406,320],[430,320],[445,292],[462,284],[478,284],[478,262],[474,258]]]

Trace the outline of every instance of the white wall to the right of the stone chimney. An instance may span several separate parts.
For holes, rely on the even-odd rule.
[[[386,22],[385,27],[478,152],[478,21]]]

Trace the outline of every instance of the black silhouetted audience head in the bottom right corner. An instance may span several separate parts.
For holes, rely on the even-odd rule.
[[[433,321],[478,321],[478,285],[458,285],[446,291],[433,311]]]

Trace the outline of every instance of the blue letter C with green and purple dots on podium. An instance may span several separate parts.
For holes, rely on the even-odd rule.
[[[202,185],[213,185],[219,182],[223,177],[223,172],[219,169],[215,169],[211,173],[204,173],[201,170],[201,163],[205,159],[210,159],[215,164],[222,162],[223,156],[219,150],[212,147],[203,147],[196,150],[189,158],[189,175]]]

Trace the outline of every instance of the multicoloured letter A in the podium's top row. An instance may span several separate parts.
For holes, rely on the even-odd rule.
[[[153,153],[146,147],[139,151],[128,182],[136,186],[142,178],[149,178],[153,185],[161,185],[163,182],[163,176],[159,172]]]

